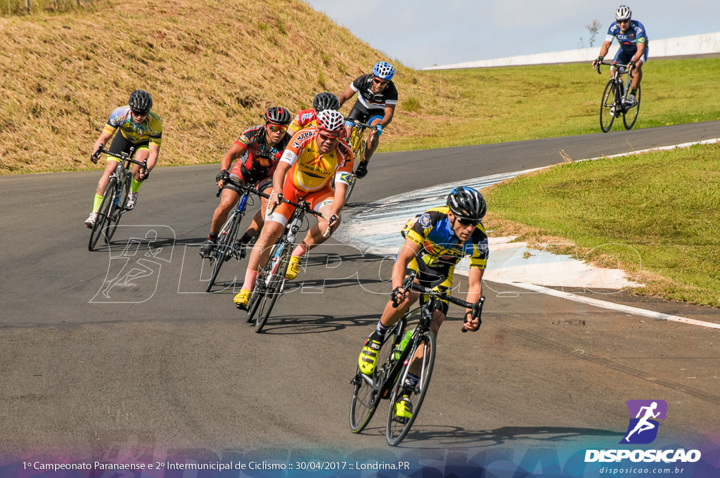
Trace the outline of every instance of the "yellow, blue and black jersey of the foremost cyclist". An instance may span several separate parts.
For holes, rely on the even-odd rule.
[[[465,256],[469,256],[470,267],[485,269],[487,265],[485,227],[482,223],[477,225],[470,238],[459,243],[448,218],[449,210],[447,206],[430,209],[402,228],[403,237],[420,246],[415,260],[419,271],[429,280],[451,277],[456,264]]]

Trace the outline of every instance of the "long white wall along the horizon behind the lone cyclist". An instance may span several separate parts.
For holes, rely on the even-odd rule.
[[[604,38],[604,37],[603,37]],[[650,39],[650,58],[680,55],[703,55],[706,53],[720,53],[720,32],[691,35],[689,37],[667,38],[665,40]],[[613,41],[606,58],[613,58],[618,51],[618,44]],[[518,66],[541,65],[545,63],[574,63],[587,61],[590,63],[598,58],[600,45],[592,48],[577,48],[576,50],[556,51],[552,53],[537,53],[536,55],[518,55],[508,58],[495,58],[494,60],[466,61],[452,65],[429,66],[423,70],[449,70],[451,68],[486,68],[490,66]]]

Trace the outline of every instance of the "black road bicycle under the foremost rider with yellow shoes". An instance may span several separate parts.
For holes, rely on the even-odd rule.
[[[438,302],[447,300],[455,305],[472,309],[472,319],[480,321],[482,304],[485,297],[480,297],[472,304],[462,299],[452,297],[449,292],[440,292],[436,289],[423,287],[414,282],[415,273],[409,274],[402,284],[402,289],[420,292],[420,304],[409,310],[392,327],[385,331],[384,346],[377,357],[377,368],[372,376],[366,375],[358,367],[350,383],[353,385],[353,394],[350,401],[350,430],[360,433],[365,429],[377,410],[382,399],[390,400],[390,409],[387,412],[385,425],[385,438],[390,446],[397,446],[408,435],[415,418],[418,417],[420,406],[428,392],[430,377],[435,364],[436,337],[430,329],[433,311]],[[413,330],[408,327],[415,324]],[[464,327],[462,331],[467,331]],[[410,334],[408,340],[407,335]],[[405,340],[403,340],[405,339]],[[415,387],[408,387],[405,379],[410,370],[410,364],[415,357],[415,351],[420,350],[420,373]],[[397,417],[395,409],[397,403],[403,399],[404,394],[410,395],[413,403],[413,412],[410,418]]]

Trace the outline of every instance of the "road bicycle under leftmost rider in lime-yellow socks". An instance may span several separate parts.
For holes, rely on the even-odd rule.
[[[125,209],[125,205],[127,204],[127,197],[130,194],[130,184],[132,184],[130,164],[137,164],[145,169],[145,171],[148,169],[147,159],[145,159],[145,161],[136,161],[133,159],[135,156],[135,148],[130,148],[129,153],[112,153],[111,151],[104,150],[103,147],[104,145],[100,145],[95,153],[93,153],[92,157],[96,158],[93,163],[97,163],[97,158],[99,158],[102,153],[118,158],[120,161],[117,163],[115,171],[110,175],[109,182],[102,196],[102,202],[100,202],[100,207],[97,209],[95,224],[90,232],[90,242],[88,243],[89,251],[95,248],[101,235],[104,235],[106,244],[110,243],[112,235],[114,235],[115,230],[117,230],[117,223],[120,222],[120,217],[125,214],[125,211],[129,210]]]

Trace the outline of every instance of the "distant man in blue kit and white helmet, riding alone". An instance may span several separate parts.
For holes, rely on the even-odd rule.
[[[636,94],[640,81],[642,81],[642,66],[647,62],[649,53],[649,40],[645,27],[631,17],[632,12],[629,6],[618,6],[615,11],[615,22],[608,28],[608,35],[605,37],[603,46],[600,47],[600,55],[593,61],[593,68],[597,69],[605,55],[608,54],[613,38],[618,39],[620,50],[615,55],[615,62],[623,65],[629,64],[630,73],[632,73],[631,91],[626,100],[626,107],[634,107],[637,104]]]

